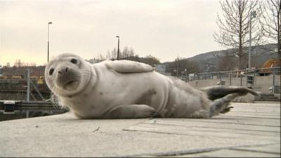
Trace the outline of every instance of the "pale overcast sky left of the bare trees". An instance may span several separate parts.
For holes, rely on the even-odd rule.
[[[218,0],[0,0],[0,64],[47,62],[75,53],[85,59],[125,46],[160,62],[221,50]]]

